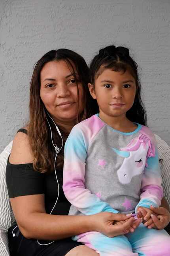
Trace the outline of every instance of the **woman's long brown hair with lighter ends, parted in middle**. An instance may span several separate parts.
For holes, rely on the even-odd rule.
[[[78,83],[78,81],[82,83],[84,108],[82,113],[79,113],[77,110],[77,123],[98,111],[98,106],[92,99],[87,86],[89,83],[89,68],[83,57],[72,50],[58,49],[47,52],[40,60],[38,60],[34,67],[30,82],[30,120],[28,124],[28,136],[34,155],[33,167],[36,171],[40,172],[48,173],[54,169],[55,150],[51,142],[51,133],[46,118],[48,118],[49,123],[51,124],[54,143],[57,144],[58,147],[61,145],[61,138],[55,129],[55,125],[46,114],[47,110],[40,97],[40,73],[46,63],[60,60],[66,62],[68,68],[76,79],[76,83]],[[79,80],[77,80],[76,73],[78,73]],[[77,93],[79,93],[78,86]],[[68,132],[61,126],[59,129],[62,133],[63,141],[65,142],[68,137]],[[64,145],[57,155],[58,169],[62,169],[63,161]]]

